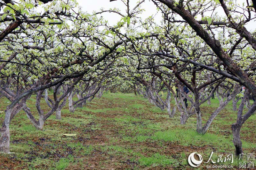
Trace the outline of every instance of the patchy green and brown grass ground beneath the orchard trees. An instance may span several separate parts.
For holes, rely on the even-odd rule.
[[[36,113],[32,96],[28,106]],[[0,120],[8,100],[0,99]],[[49,108],[42,101],[43,110]],[[204,122],[218,106],[202,107]],[[245,153],[256,152],[256,115],[242,127]],[[133,94],[104,94],[75,113],[62,109],[62,120],[52,115],[38,131],[20,112],[11,122],[11,152],[0,154],[0,169],[190,169],[187,158],[200,153],[204,162],[217,155],[234,153],[230,125],[236,121],[231,103],[221,111],[205,135],[196,133],[196,117],[179,124],[179,113],[166,112]],[[77,134],[73,137],[65,133]],[[233,164],[239,165],[235,159]],[[256,162],[255,162],[256,164]],[[206,165],[206,164],[205,164]],[[205,169],[205,165],[197,169]],[[209,164],[208,164],[209,165]]]

